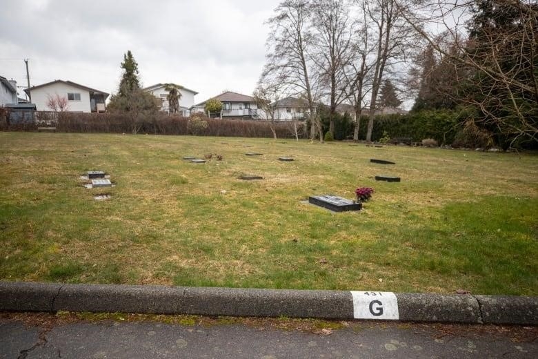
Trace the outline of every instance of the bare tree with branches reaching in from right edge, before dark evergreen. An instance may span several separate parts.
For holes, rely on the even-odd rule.
[[[509,146],[518,139],[538,141],[535,0],[429,0],[399,3],[399,9],[437,53],[466,69],[470,91],[461,102],[476,109],[477,124],[506,137]],[[439,29],[457,51],[436,41]]]

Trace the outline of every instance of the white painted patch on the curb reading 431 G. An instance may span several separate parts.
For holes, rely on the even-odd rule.
[[[353,318],[398,320],[398,300],[392,292],[351,291]]]

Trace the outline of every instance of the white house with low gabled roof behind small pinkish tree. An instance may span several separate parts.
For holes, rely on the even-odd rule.
[[[76,84],[72,81],[55,80],[46,84],[33,86],[24,90],[32,97],[38,111],[50,111],[47,102],[58,95],[68,100],[67,111],[70,112],[104,112],[108,93]]]

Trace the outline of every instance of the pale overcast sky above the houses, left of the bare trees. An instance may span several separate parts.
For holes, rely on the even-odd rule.
[[[0,76],[26,86],[63,79],[116,93],[131,50],[143,86],[174,82],[196,102],[252,95],[279,0],[2,0]],[[19,88],[19,97],[23,97]]]

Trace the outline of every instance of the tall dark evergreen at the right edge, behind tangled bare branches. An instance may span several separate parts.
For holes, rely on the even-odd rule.
[[[538,4],[480,0],[472,12],[466,55],[481,68],[470,72],[465,101],[504,148],[517,140],[536,146]]]

